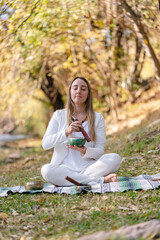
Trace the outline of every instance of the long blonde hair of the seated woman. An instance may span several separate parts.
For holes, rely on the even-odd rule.
[[[89,135],[90,135],[91,140],[95,141],[96,140],[96,134],[95,134],[95,113],[94,113],[93,104],[92,104],[92,92],[91,92],[91,87],[90,87],[89,82],[85,78],[83,78],[83,77],[76,77],[76,78],[74,78],[72,80],[72,82],[70,83],[70,85],[69,85],[68,98],[67,98],[67,104],[66,104],[67,124],[68,124],[68,126],[71,124],[71,122],[72,122],[72,115],[73,115],[73,113],[75,111],[75,105],[74,105],[74,102],[72,101],[72,98],[71,98],[71,87],[72,87],[73,82],[76,79],[83,80],[87,84],[87,86],[88,86],[88,97],[87,97],[87,100],[85,102],[85,104],[86,104],[85,111],[86,111],[87,119],[88,119]]]

